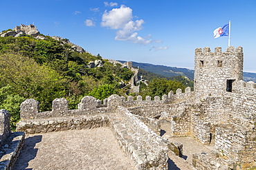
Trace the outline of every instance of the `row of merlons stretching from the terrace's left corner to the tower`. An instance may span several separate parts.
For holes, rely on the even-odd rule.
[[[176,94],[174,92],[169,92],[168,95],[164,94],[161,98],[159,96],[154,96],[151,98],[150,96],[146,96],[145,100],[143,100],[142,96],[128,96],[125,98],[124,96],[118,96],[113,94],[109,98],[105,98],[103,100],[97,100],[93,96],[84,96],[81,99],[81,102],[78,103],[77,109],[68,109],[68,101],[65,98],[55,98],[52,103],[51,111],[43,111],[39,112],[39,102],[34,100],[33,98],[26,99],[23,103],[21,103],[21,120],[30,120],[30,119],[38,119],[38,118],[55,118],[62,116],[78,116],[78,115],[86,115],[86,114],[99,114],[99,113],[107,113],[113,107],[118,105],[122,105],[125,107],[134,107],[140,105],[164,105],[167,103],[175,103],[181,100],[188,100],[194,96],[194,92],[191,92],[190,87],[185,89],[185,93],[182,93],[181,89],[176,90]]]

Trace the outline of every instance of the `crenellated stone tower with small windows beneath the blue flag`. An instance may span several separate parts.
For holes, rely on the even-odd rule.
[[[230,46],[226,52],[216,47],[196,48],[194,56],[194,91],[196,97],[222,96],[232,92],[232,83],[243,79],[243,48]]]

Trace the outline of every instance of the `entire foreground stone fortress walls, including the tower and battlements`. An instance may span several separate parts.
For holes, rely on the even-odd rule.
[[[185,92],[177,89],[175,94],[147,96],[145,100],[114,94],[103,104],[85,96],[73,110],[68,109],[65,98],[56,98],[52,111],[44,112],[39,111],[38,101],[27,99],[21,103],[17,131],[33,134],[110,127],[138,169],[168,169],[167,152],[182,156],[182,144],[161,137],[161,123],[165,121],[173,137],[193,136],[204,145],[214,146],[212,151],[194,153],[195,169],[253,169],[256,84],[241,80],[242,69],[242,47],[228,47],[226,52],[221,52],[221,47],[214,52],[208,47],[197,48],[194,92],[187,87]],[[4,130],[8,126],[2,127],[2,131],[10,131]],[[8,138],[10,132],[2,134]]]

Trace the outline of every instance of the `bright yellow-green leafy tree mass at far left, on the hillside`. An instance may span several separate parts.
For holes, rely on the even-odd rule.
[[[51,101],[66,91],[66,80],[55,70],[19,54],[0,54],[0,85],[10,85],[13,94],[38,100],[42,110],[51,109]]]

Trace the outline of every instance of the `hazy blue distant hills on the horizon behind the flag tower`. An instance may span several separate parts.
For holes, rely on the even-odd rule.
[[[120,61],[124,63],[126,61]],[[180,68],[180,67],[170,67],[165,65],[154,65],[149,63],[137,63],[132,61],[132,65],[134,67],[140,67],[147,72],[153,72],[154,74],[159,74],[165,77],[172,77],[172,76],[186,76],[190,78],[190,80],[194,80],[194,70],[190,70],[187,68]],[[244,72],[244,81],[254,81],[256,83],[256,73]]]

